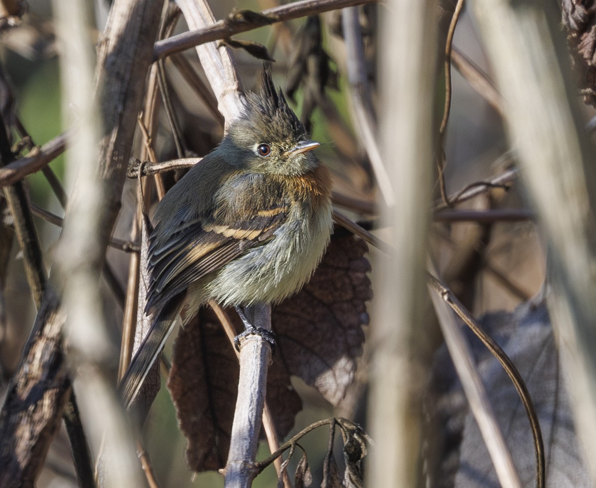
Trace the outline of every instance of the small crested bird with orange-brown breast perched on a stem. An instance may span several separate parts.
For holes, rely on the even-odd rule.
[[[308,282],[333,230],[318,146],[263,69],[260,92],[246,95],[219,146],[157,204],[145,306],[155,318],[120,382],[127,407],[176,323],[207,301],[235,307],[245,333],[259,333],[244,308],[276,304]]]

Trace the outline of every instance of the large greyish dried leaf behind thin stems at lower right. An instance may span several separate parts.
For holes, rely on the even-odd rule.
[[[482,320],[483,327],[499,342],[517,366],[538,414],[547,460],[546,487],[592,486],[575,435],[573,416],[565,389],[557,347],[545,305],[520,305],[513,313],[497,312]],[[479,341],[470,340],[479,372],[513,455],[523,486],[533,486],[535,458],[529,422],[519,396],[501,365]],[[440,422],[430,433],[443,443],[440,467],[427,462],[430,486],[480,488],[498,486],[498,478],[480,436],[476,421],[467,409],[464,394],[448,365],[445,351],[437,355],[434,388],[429,412],[439,412]]]

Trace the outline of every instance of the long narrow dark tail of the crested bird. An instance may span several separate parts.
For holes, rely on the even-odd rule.
[[[167,308],[163,310],[151,324],[122,377],[122,381],[120,381],[120,395],[126,408],[131,406],[132,401],[141,390],[147,373],[159,357],[167,338],[179,320],[179,307],[171,307],[170,310]]]

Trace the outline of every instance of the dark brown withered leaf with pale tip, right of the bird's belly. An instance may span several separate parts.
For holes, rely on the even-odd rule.
[[[277,352],[288,372],[337,405],[362,353],[373,296],[364,241],[336,230],[311,281],[272,310]]]

